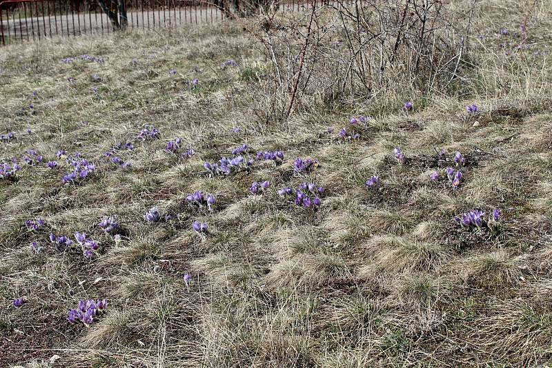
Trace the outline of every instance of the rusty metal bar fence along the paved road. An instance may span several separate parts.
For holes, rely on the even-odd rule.
[[[213,23],[233,14],[237,0],[0,0],[0,44],[106,34],[119,28]],[[308,0],[275,1],[280,11]],[[253,11],[258,9],[253,9]]]

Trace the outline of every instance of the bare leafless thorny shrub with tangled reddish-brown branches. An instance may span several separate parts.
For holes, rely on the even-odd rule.
[[[251,29],[273,67],[264,119],[389,88],[446,89],[469,34],[469,22],[453,25],[457,15],[440,0],[313,1],[302,17],[266,14]]]

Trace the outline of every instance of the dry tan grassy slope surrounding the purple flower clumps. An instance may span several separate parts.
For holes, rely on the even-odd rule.
[[[477,23],[487,34],[477,48],[484,88],[469,99],[426,97],[410,114],[404,96],[386,95],[258,123],[256,80],[268,77],[267,64],[233,25],[0,49],[0,133],[17,134],[0,156],[34,148],[51,160],[65,149],[99,167],[80,185],[62,185],[63,170],[44,165],[0,182],[0,365],[54,354],[56,367],[551,364],[550,65],[547,55],[506,57],[497,47],[497,30],[520,23],[522,6],[507,4]],[[546,14],[531,22],[533,48],[547,50]],[[241,66],[221,70],[227,59]],[[467,116],[473,102],[482,112]],[[373,119],[358,141],[325,133],[361,113]],[[135,141],[145,123],[161,140],[121,154],[131,170],[107,163],[103,153]],[[236,126],[242,132],[230,133]],[[165,152],[176,136],[197,154],[179,163]],[[284,165],[206,175],[204,161],[242,143],[283,150]],[[406,165],[393,158],[397,146]],[[460,190],[428,179],[440,149],[473,159]],[[298,156],[321,165],[295,177]],[[381,191],[364,189],[373,174]],[[253,196],[254,180],[273,186]],[[326,187],[316,214],[276,194],[303,181]],[[213,213],[186,207],[195,190],[217,196]],[[180,216],[148,225],[154,205]],[[458,232],[451,218],[474,207],[502,208],[504,232]],[[106,215],[126,230],[119,244],[96,226]],[[28,232],[28,218],[47,225]],[[210,225],[204,241],[191,231],[195,219]],[[103,246],[92,261],[59,254],[47,239],[83,230]],[[46,252],[34,254],[31,241]],[[28,303],[16,309],[18,296]],[[80,298],[110,303],[90,329],[66,321]]]

